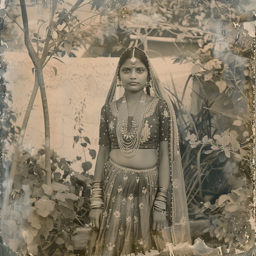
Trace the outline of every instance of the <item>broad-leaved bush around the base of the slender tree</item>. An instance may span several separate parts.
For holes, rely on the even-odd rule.
[[[92,177],[85,172],[75,172],[69,161],[53,153],[53,180],[47,185],[44,154],[44,150],[34,156],[20,154],[7,209],[15,216],[10,215],[3,221],[2,232],[8,236],[9,246],[19,254],[48,255],[49,245],[53,243],[73,250],[71,236],[76,235],[76,227],[84,226],[84,216],[90,210]],[[17,204],[20,213],[17,213]]]

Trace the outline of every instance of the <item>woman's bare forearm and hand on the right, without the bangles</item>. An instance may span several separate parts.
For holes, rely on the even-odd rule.
[[[170,160],[169,140],[159,142],[159,170],[158,187],[169,189],[170,183]],[[152,230],[160,231],[167,226],[166,215],[155,209],[152,212]]]

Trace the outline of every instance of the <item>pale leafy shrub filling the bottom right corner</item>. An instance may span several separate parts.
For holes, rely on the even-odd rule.
[[[229,194],[221,195],[215,204],[208,201],[204,206],[211,211],[221,211],[221,214],[215,215],[217,218],[204,233],[209,232],[212,237],[223,239],[225,243],[240,250],[249,250],[254,245],[251,222],[253,205],[249,188],[231,190]]]

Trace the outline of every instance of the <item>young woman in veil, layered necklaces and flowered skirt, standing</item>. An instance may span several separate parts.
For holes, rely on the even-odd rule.
[[[112,102],[116,86],[125,93]],[[191,242],[175,113],[139,48],[119,59],[101,111],[99,145],[88,254],[137,255],[161,251],[166,242]]]

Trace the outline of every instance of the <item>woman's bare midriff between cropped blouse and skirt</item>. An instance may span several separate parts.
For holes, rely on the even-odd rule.
[[[120,149],[113,149],[109,156],[113,162],[120,166],[133,169],[148,169],[157,164],[156,149],[138,149],[131,158],[125,157]]]

